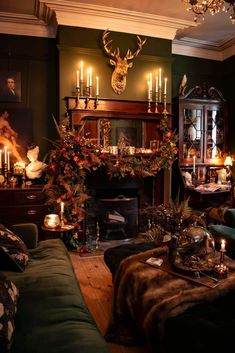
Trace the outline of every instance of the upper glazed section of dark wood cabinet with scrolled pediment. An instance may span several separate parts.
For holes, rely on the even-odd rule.
[[[227,109],[222,94],[196,86],[173,99],[173,123],[179,132],[180,166],[222,165],[227,149]],[[176,122],[178,120],[178,123]]]

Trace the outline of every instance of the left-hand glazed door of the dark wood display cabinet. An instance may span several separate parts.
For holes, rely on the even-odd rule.
[[[200,162],[203,157],[203,110],[186,108],[183,114],[183,159],[192,160],[193,156],[196,156],[197,161]]]

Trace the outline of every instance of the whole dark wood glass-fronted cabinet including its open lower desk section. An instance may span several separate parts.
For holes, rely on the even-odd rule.
[[[191,206],[222,203],[226,189],[204,193],[197,186],[216,183],[224,170],[227,150],[227,104],[220,91],[196,86],[173,98],[172,124],[179,135],[179,158],[173,169],[172,195],[179,188],[182,197],[190,195]],[[224,185],[226,187],[226,185]],[[213,194],[213,202],[212,202]],[[200,202],[199,202],[200,201]]]

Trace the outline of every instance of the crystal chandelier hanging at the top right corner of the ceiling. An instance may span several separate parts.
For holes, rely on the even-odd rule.
[[[228,12],[232,7],[233,13],[229,18],[232,24],[235,24],[235,0],[184,0],[184,2],[187,5],[187,11],[193,11],[195,13],[195,22],[197,22],[199,16],[202,16],[204,20],[204,15],[207,10],[209,10],[212,15],[215,15],[222,11]]]

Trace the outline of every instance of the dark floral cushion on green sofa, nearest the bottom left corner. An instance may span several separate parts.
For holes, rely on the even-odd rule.
[[[0,351],[10,352],[15,328],[19,292],[13,282],[0,273]]]

